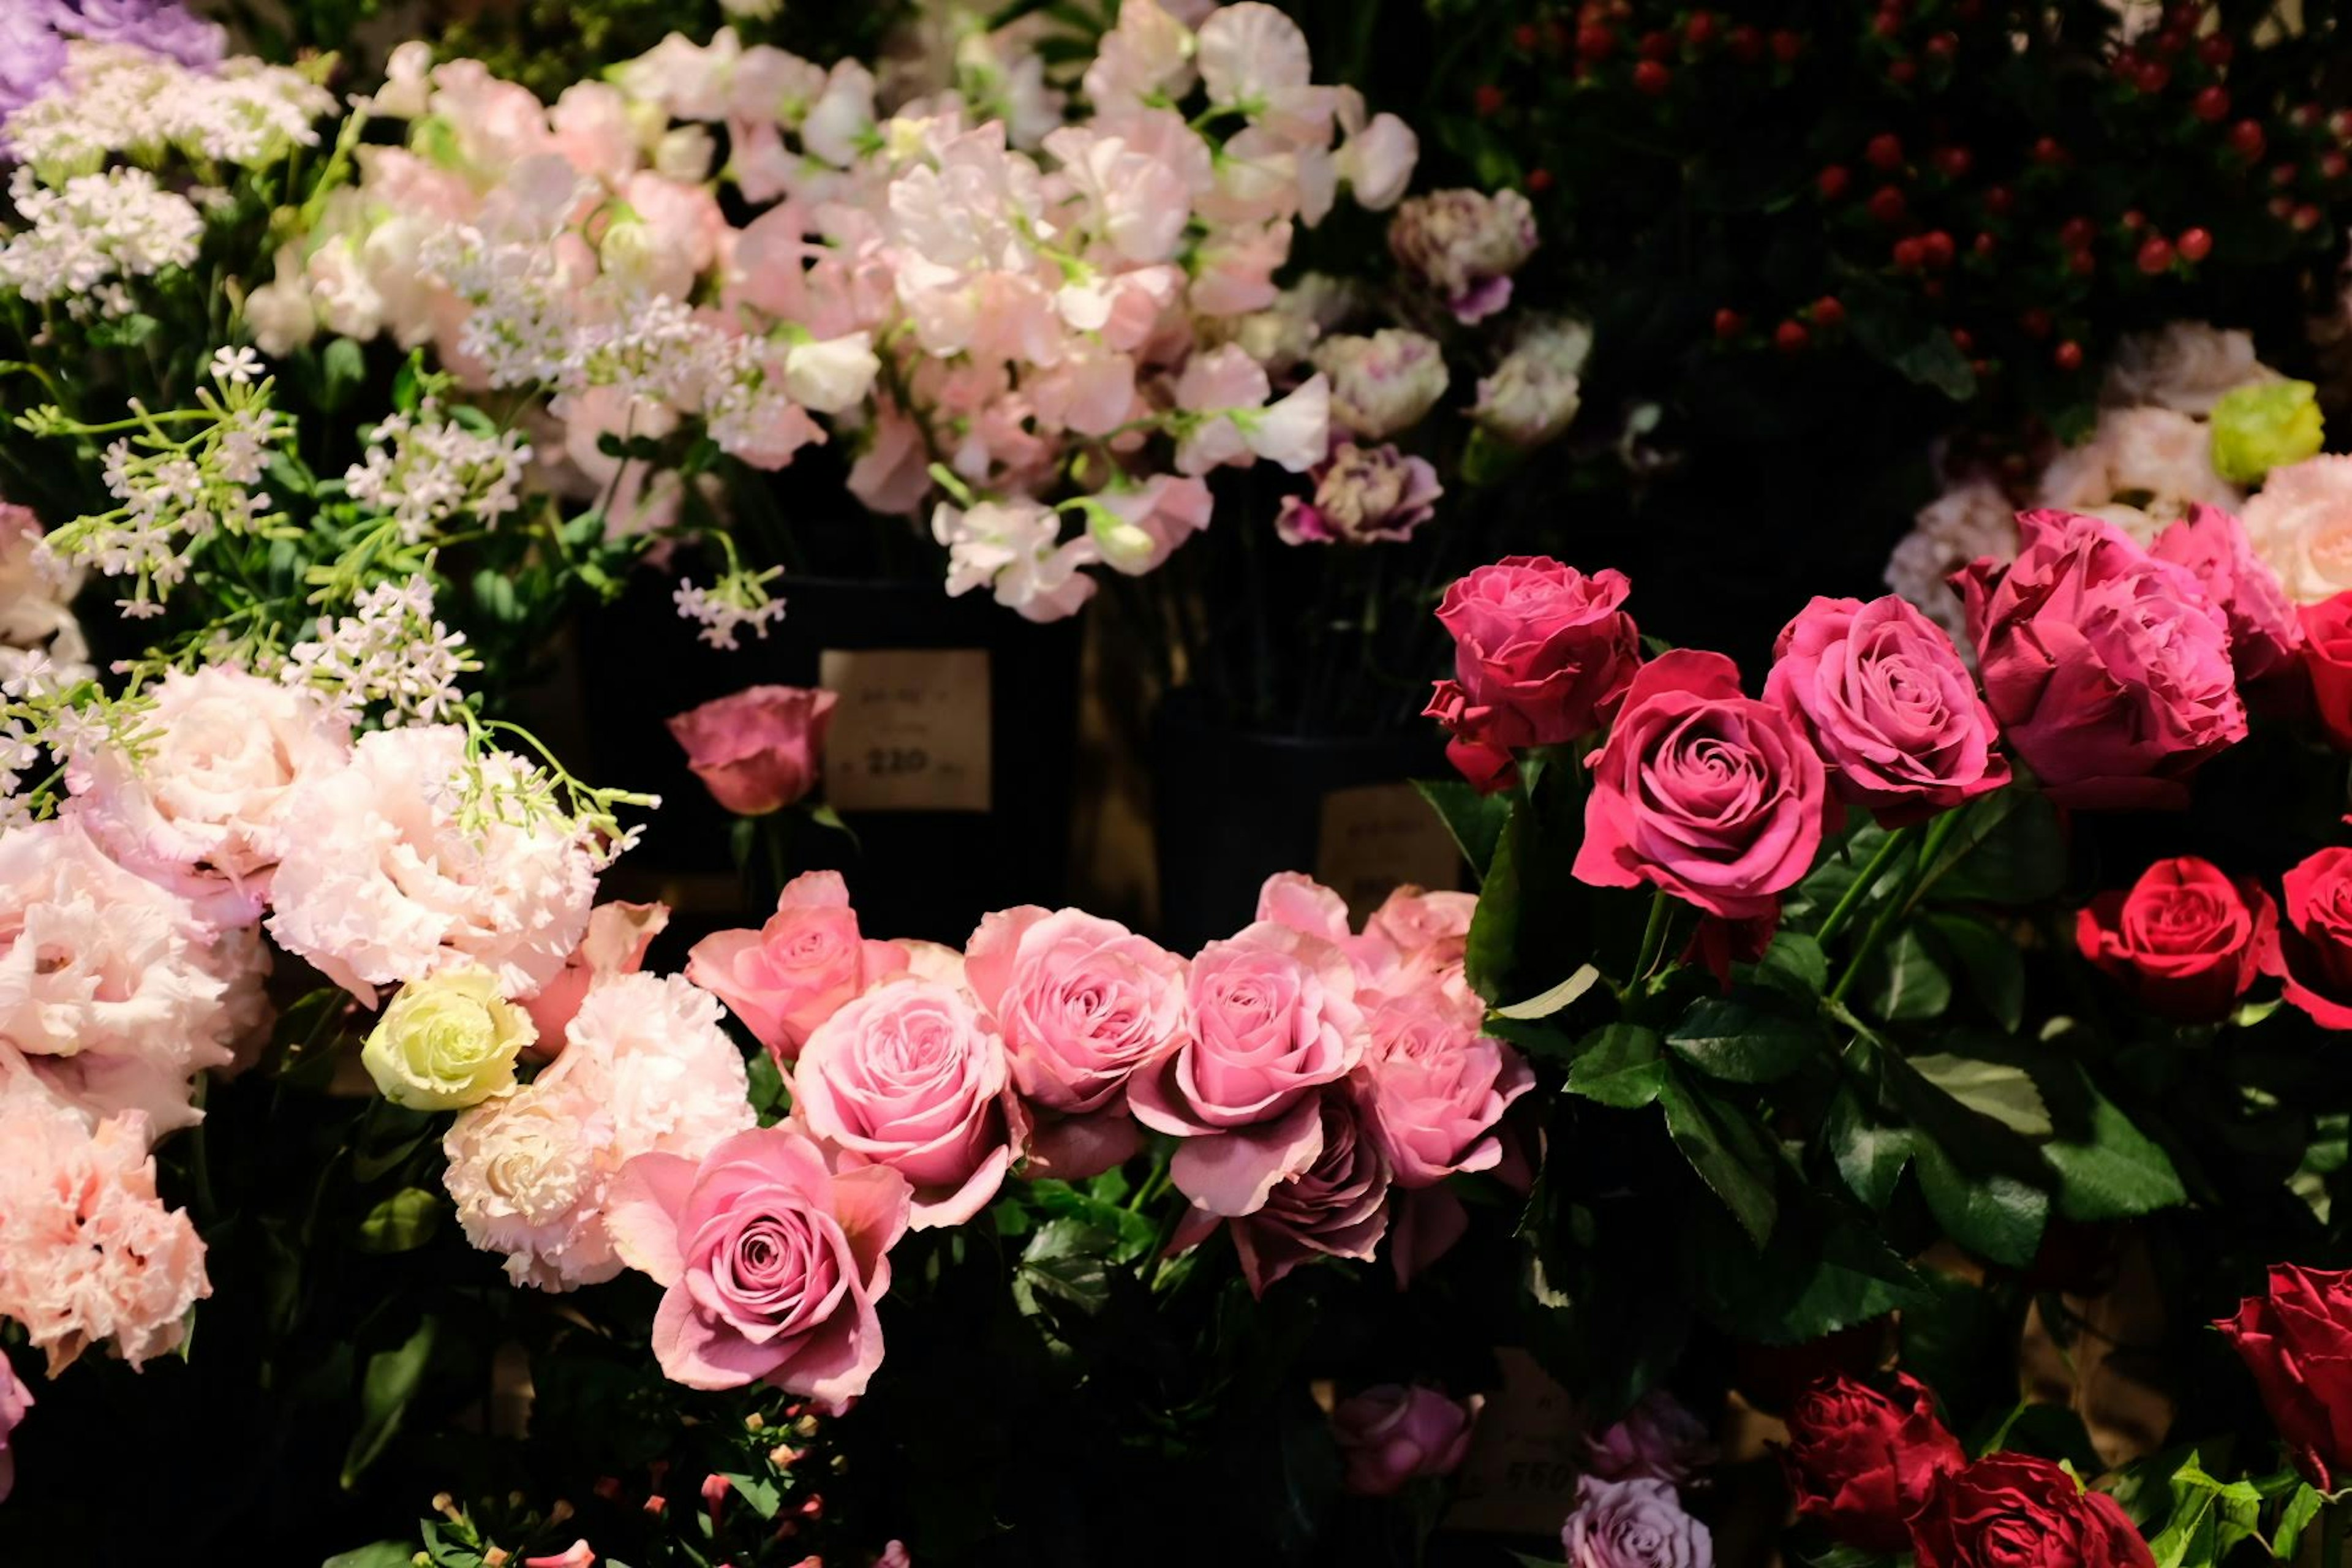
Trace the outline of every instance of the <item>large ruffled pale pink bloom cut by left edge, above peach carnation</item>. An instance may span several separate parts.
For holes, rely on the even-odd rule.
[[[73,818],[0,832],[0,1044],[89,1117],[195,1121],[188,1079],[256,1018],[259,943],[223,938]]]

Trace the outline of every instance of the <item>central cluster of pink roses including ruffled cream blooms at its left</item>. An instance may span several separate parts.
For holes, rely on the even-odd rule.
[[[901,1234],[976,1218],[1016,1175],[1101,1175],[1148,1131],[1178,1140],[1176,1251],[1230,1227],[1265,1291],[1390,1237],[1409,1276],[1463,1229],[1442,1182],[1517,1166],[1501,1121],[1534,1086],[1463,980],[1472,907],[1404,889],[1352,931],[1336,893],[1284,875],[1190,961],[1040,907],[955,952],[863,936],[840,877],[809,872],[762,929],[656,980],[635,973],[647,912],[612,905],[586,997],[548,992],[576,1006],[541,1018],[553,1067],[456,1119],[449,1190],[517,1281],[663,1284],[670,1378],[835,1406],[882,1361]],[[783,1124],[753,1124],[713,997],[781,1065]]]

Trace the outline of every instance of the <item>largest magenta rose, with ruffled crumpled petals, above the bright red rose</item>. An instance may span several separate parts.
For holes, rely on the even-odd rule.
[[[2060,806],[2183,806],[2246,738],[2230,623],[2112,522],[2020,512],[2016,562],[1959,574],[1985,701]]]

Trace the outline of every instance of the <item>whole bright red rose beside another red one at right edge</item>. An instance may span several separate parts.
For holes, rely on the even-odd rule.
[[[2260,969],[2279,924],[2270,893],[2211,860],[2157,860],[2129,893],[2107,891],[2074,917],[2074,943],[2150,1013],[2218,1023]]]

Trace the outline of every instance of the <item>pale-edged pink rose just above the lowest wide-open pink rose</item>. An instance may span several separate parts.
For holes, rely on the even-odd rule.
[[[891,980],[842,1006],[809,1034],[790,1084],[793,1121],[840,1168],[889,1166],[915,1187],[915,1229],[985,1208],[1021,1143],[1004,1041],[936,980]]]

